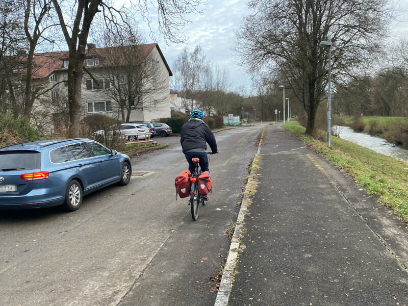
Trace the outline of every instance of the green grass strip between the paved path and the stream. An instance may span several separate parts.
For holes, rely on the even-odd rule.
[[[379,202],[408,222],[408,163],[335,136],[331,136],[328,148],[325,141],[304,135],[305,129],[297,121],[290,121],[283,127],[348,173],[361,188],[376,195]],[[319,138],[324,139],[325,133],[321,132]]]

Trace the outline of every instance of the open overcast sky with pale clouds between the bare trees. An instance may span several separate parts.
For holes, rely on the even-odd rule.
[[[200,45],[208,60],[230,72],[230,90],[236,91],[240,86],[245,86],[249,94],[252,87],[250,77],[237,64],[232,50],[236,39],[234,31],[245,14],[249,13],[246,3],[246,0],[208,0],[202,14],[192,14],[188,17],[192,23],[184,28],[184,35],[189,38],[187,43],[168,46],[164,40],[159,40],[160,48],[170,67],[172,68],[174,60],[184,47],[191,52],[196,45]],[[408,0],[399,0],[397,5],[403,13],[399,17],[401,21],[394,22],[393,33],[396,38],[408,38]]]

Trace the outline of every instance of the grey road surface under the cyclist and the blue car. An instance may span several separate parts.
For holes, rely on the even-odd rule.
[[[0,305],[210,305],[211,277],[225,260],[225,230],[240,196],[261,125],[215,133],[213,193],[192,221],[175,199],[174,178],[187,168],[179,137],[132,160],[131,184],[60,208],[0,212]]]

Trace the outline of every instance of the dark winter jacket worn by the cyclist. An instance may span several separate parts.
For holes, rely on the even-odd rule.
[[[202,120],[191,118],[182,127],[180,143],[183,153],[193,149],[207,149],[207,142],[212,152],[217,152],[217,142],[210,127]]]

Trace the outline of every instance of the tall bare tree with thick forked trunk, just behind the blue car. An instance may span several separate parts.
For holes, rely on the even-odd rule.
[[[65,0],[52,0],[54,9],[58,15],[59,22],[65,41],[68,45],[68,102],[70,136],[79,135],[79,123],[81,118],[81,84],[84,75],[83,65],[85,60],[85,48],[88,35],[94,17],[99,12],[104,16],[107,28],[116,28],[120,21],[125,20],[124,9],[115,9],[109,2],[102,0],[89,0],[75,2],[75,8]],[[141,14],[150,22],[148,0],[139,1]],[[157,16],[161,32],[169,40],[176,40],[179,36],[178,29],[187,20],[185,15],[198,12],[197,7],[203,2],[201,0],[157,0],[154,7],[157,8]]]

